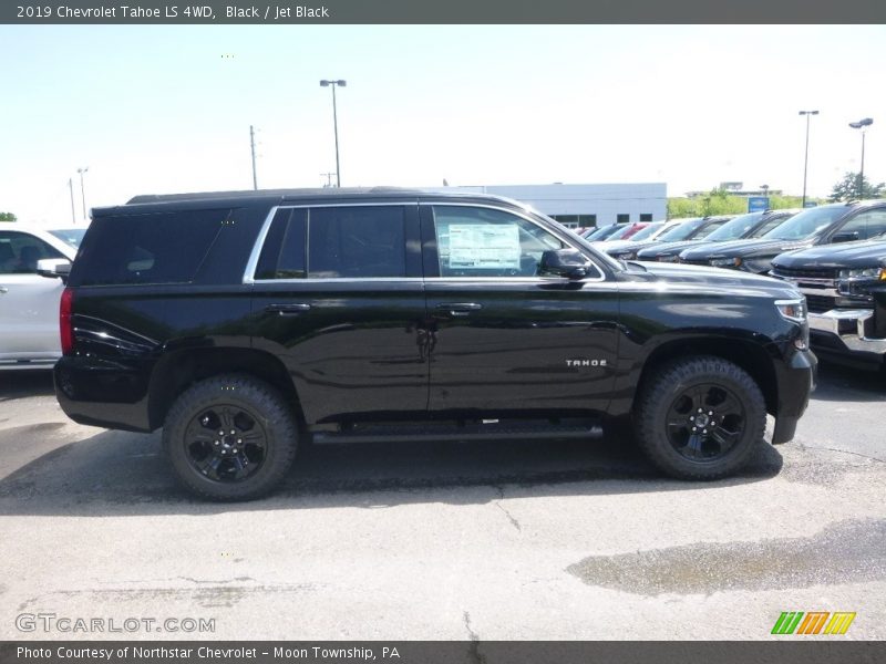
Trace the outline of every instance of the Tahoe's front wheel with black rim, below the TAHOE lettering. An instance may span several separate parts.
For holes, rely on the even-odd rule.
[[[647,457],[671,477],[715,479],[740,470],[766,426],[756,382],[721,357],[663,365],[642,386],[635,430]]]

